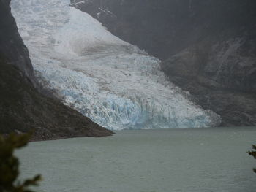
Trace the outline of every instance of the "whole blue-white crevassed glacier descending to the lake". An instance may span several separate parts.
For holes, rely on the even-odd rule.
[[[67,0],[12,0],[39,82],[109,129],[217,126],[166,80],[159,60],[118,39]]]

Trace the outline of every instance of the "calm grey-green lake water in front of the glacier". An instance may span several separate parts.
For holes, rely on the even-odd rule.
[[[256,128],[118,131],[108,138],[32,142],[18,151],[22,177],[47,192],[250,192]]]

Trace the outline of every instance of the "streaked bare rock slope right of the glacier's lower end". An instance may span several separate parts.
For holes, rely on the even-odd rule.
[[[255,39],[204,39],[162,62],[169,79],[197,104],[222,116],[222,126],[256,125]]]

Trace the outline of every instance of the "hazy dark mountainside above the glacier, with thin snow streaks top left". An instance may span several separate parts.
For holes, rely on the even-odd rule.
[[[256,18],[254,0],[72,0],[72,5],[161,60]]]

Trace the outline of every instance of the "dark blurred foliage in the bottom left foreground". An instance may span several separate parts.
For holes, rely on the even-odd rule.
[[[33,192],[30,186],[37,186],[41,176],[27,179],[23,183],[18,181],[19,161],[14,150],[25,147],[31,134],[10,134],[8,137],[0,135],[0,192]]]

